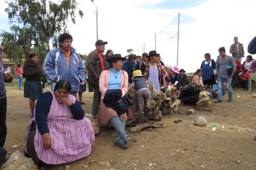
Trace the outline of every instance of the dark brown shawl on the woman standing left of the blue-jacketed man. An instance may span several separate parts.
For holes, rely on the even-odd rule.
[[[39,63],[34,63],[31,59],[27,59],[23,66],[23,75],[29,76],[45,76],[43,69]]]

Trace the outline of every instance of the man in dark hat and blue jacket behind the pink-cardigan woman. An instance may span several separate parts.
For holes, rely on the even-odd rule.
[[[128,73],[128,85],[132,84],[132,77],[134,71],[134,64],[135,64],[136,55],[130,54],[128,60],[123,63],[122,70]]]

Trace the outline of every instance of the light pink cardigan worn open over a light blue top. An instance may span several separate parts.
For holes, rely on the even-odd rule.
[[[99,80],[99,86],[101,91],[101,99],[104,98],[106,91],[108,90],[108,78],[110,74],[110,69],[101,72],[101,77]],[[122,97],[128,92],[128,74],[127,72],[121,70],[121,88]]]

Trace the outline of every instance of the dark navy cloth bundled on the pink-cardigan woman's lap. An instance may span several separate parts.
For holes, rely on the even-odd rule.
[[[121,89],[108,89],[105,93],[103,98],[103,103],[107,106],[112,108],[114,111],[117,112],[118,116],[121,116],[123,113],[128,114],[128,102],[125,98],[122,97]],[[118,103],[118,100],[122,99],[121,103]]]

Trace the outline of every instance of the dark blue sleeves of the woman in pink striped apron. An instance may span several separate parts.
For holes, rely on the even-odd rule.
[[[47,114],[50,111],[52,101],[52,93],[45,92],[40,96],[35,105],[35,120],[41,135],[49,133],[49,128],[47,125]],[[75,104],[69,106],[69,109],[73,114],[74,119],[81,120],[84,118],[84,111],[77,100],[75,101]]]

